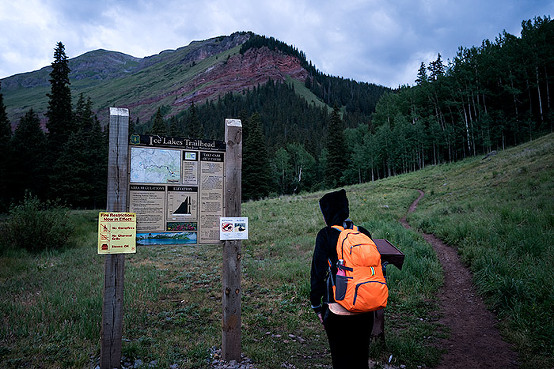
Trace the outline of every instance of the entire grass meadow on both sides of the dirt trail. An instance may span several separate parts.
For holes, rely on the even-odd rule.
[[[406,255],[388,267],[386,346],[372,359],[433,367],[442,270],[430,245],[398,219],[457,247],[522,368],[554,367],[554,135],[458,163],[346,187],[351,218]],[[258,368],[330,368],[308,301],[322,193],[243,204],[242,351]],[[104,257],[98,211],[72,213],[75,247],[0,254],[0,367],[94,368],[100,350]],[[221,245],[140,247],[125,257],[123,355],[143,367],[209,368],[221,345]]]

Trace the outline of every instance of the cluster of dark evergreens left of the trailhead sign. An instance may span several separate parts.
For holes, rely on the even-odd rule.
[[[0,93],[1,211],[27,194],[78,208],[105,207],[107,132],[90,98],[79,95],[73,108],[61,42],[54,51],[50,85],[46,122],[31,108],[13,132]]]

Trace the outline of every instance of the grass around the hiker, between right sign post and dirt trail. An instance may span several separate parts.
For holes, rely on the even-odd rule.
[[[347,192],[352,219],[406,254],[401,271],[388,267],[388,348],[376,345],[372,349],[374,359],[384,362],[392,354],[394,362],[410,367],[436,364],[440,350],[432,343],[442,333],[433,296],[442,282],[440,264],[422,238],[397,222],[417,192],[386,182],[353,186]],[[315,235],[324,226],[318,207],[322,195],[244,205],[245,215],[256,224],[244,244],[245,283],[264,287],[245,292],[245,305],[252,304],[256,314],[246,315],[246,326],[251,328],[244,349],[261,368],[279,368],[284,363],[312,368],[330,363],[325,332],[308,301]],[[422,273],[425,278],[421,278]],[[299,343],[290,335],[305,341]]]

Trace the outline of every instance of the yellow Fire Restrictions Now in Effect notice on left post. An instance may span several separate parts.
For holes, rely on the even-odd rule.
[[[98,217],[98,253],[136,253],[137,217],[135,213],[100,213]]]

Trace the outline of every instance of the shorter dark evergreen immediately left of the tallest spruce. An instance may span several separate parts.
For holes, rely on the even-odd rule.
[[[46,137],[33,109],[19,121],[11,147],[17,153],[11,158],[8,177],[14,200],[22,200],[26,191],[44,199],[47,193]]]

